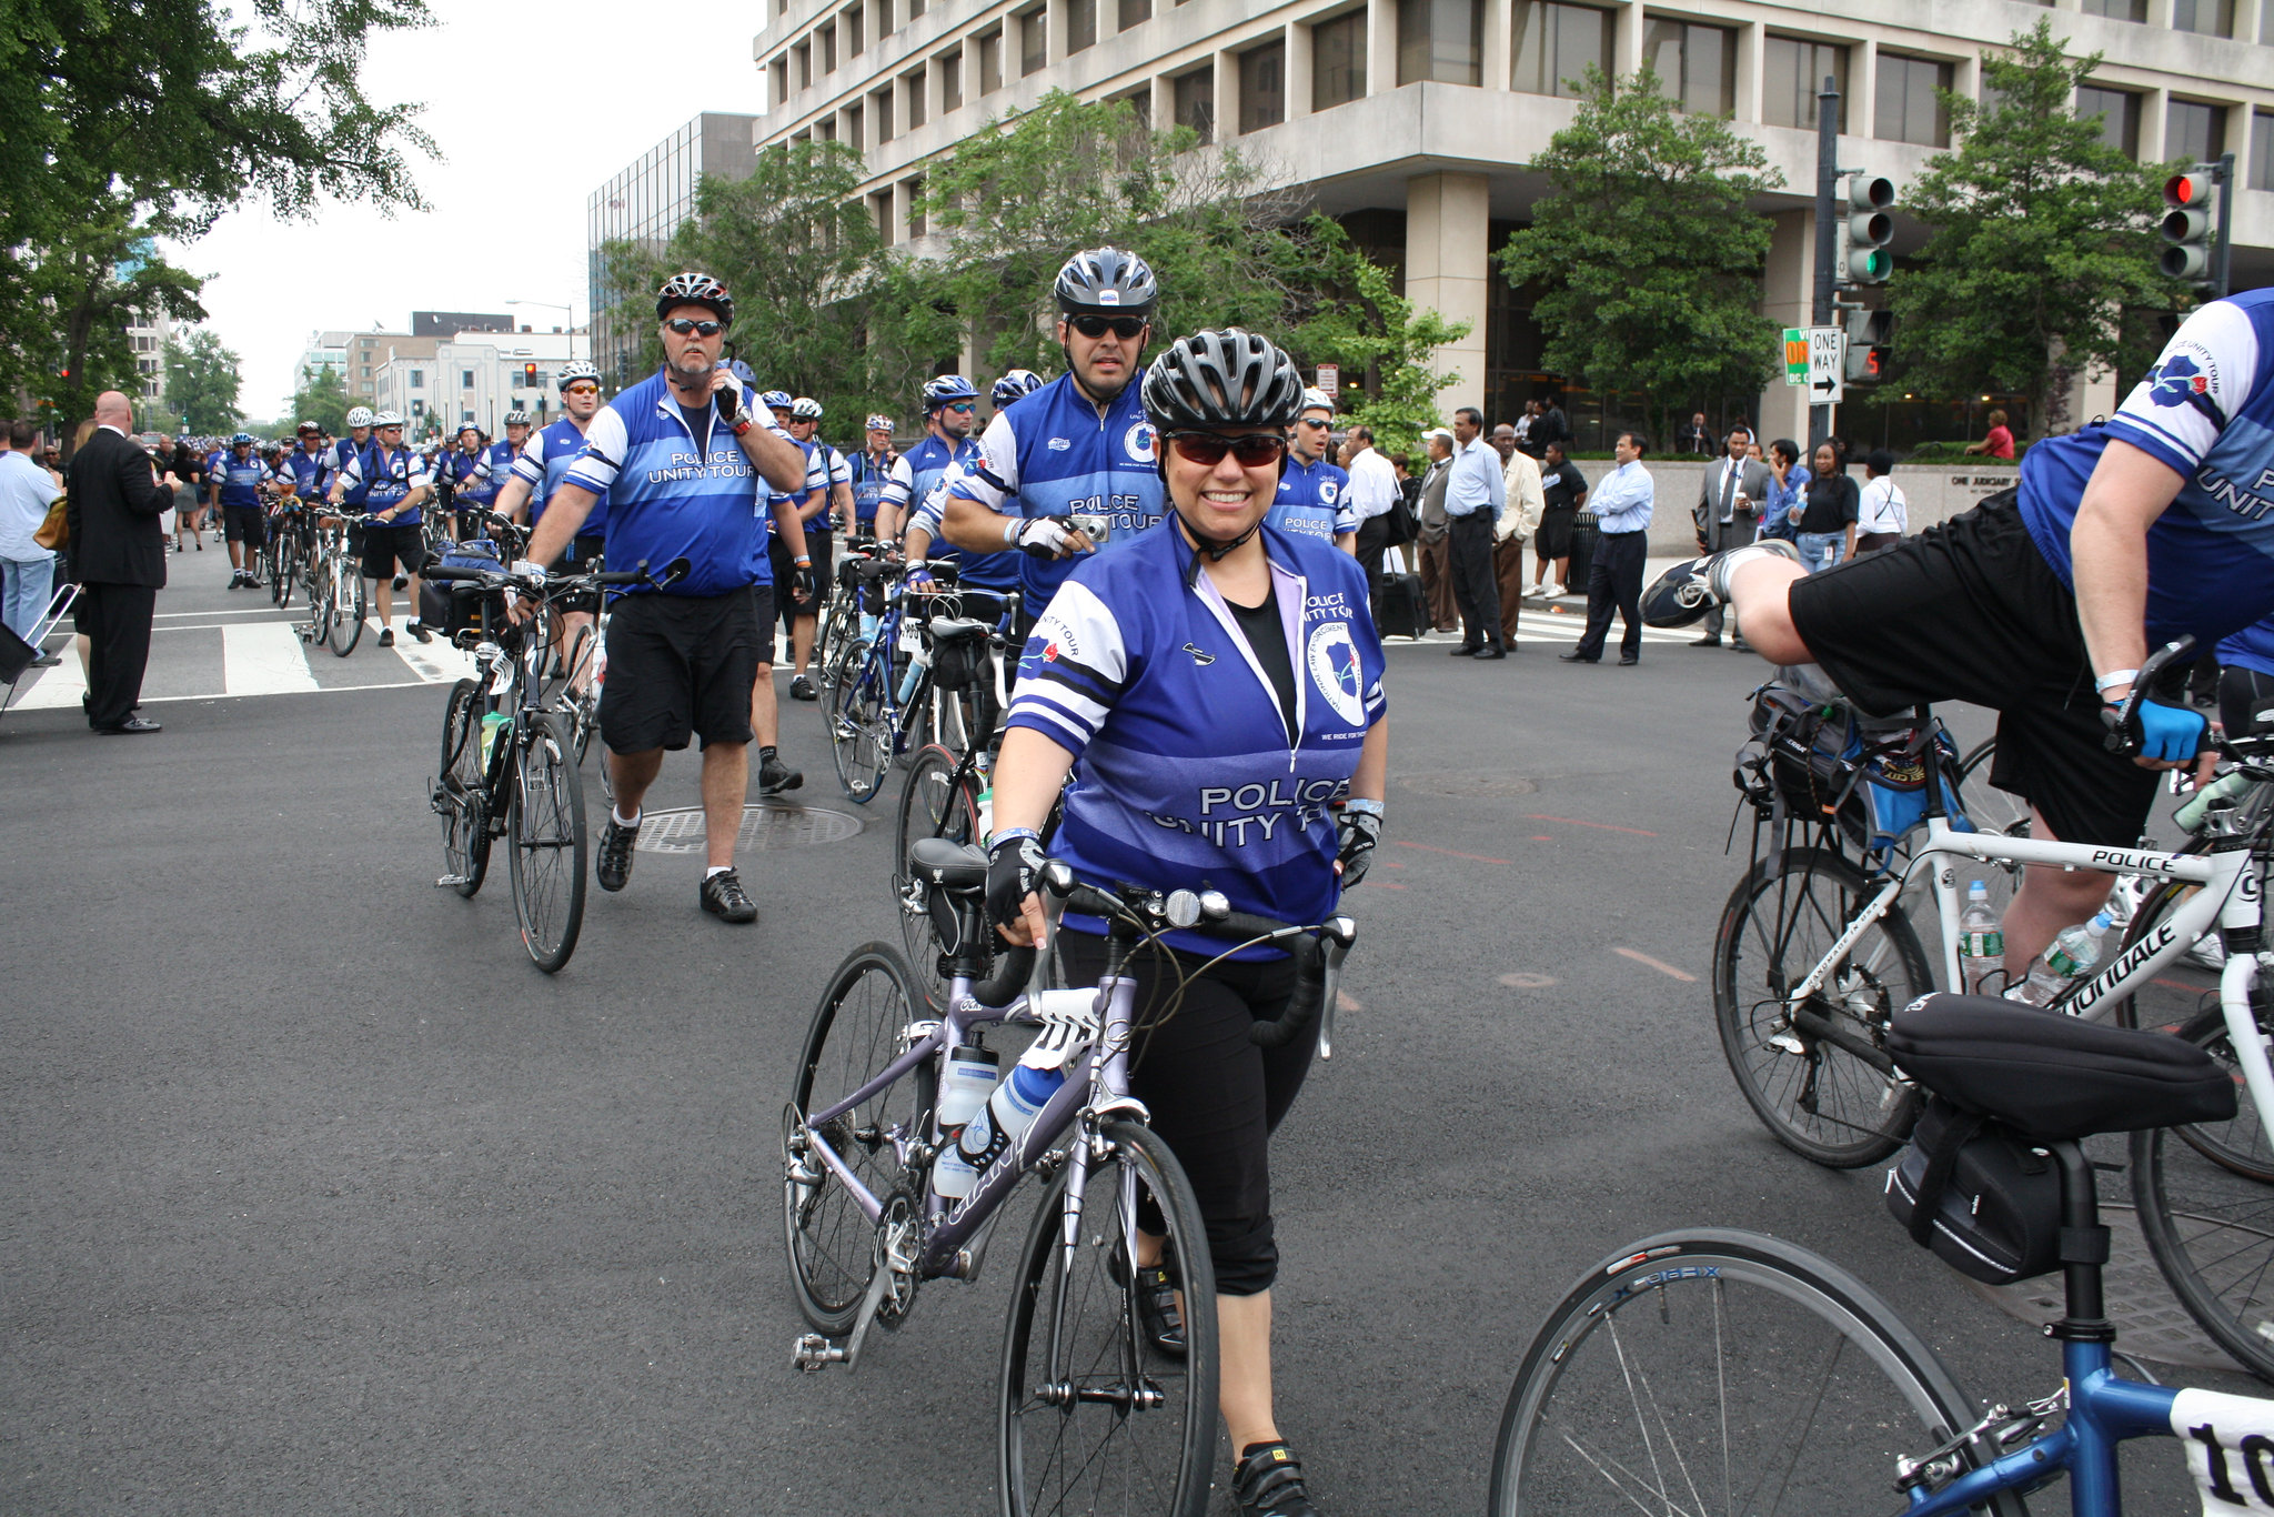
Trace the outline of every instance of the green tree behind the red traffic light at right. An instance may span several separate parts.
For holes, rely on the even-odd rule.
[[[2133,316],[2183,298],[2156,266],[2167,168],[2131,161],[2099,116],[2069,109],[2101,55],[2069,57],[2049,23],[1981,59],[1992,105],[1944,93],[1958,148],[1903,196],[1935,234],[1887,284],[1890,389],[2031,396],[2040,432],[2056,432],[2076,373],[2144,368],[2156,337]]]

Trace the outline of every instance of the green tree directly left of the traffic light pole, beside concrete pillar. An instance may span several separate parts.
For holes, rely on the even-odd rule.
[[[1590,66],[1578,116],[1533,168],[1549,193],[1499,259],[1510,282],[1539,287],[1546,368],[1640,393],[1660,437],[1676,412],[1769,382],[1776,328],[1758,305],[1771,225],[1751,200],[1783,175],[1760,143],[1678,111],[1651,68],[1610,80]]]

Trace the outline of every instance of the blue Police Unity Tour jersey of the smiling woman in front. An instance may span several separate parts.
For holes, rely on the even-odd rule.
[[[1214,580],[1187,585],[1192,546],[1173,528],[1073,569],[1026,644],[1007,721],[1080,760],[1051,844],[1078,876],[1221,889],[1244,912],[1319,921],[1339,896],[1328,803],[1387,712],[1383,644],[1358,559],[1276,528],[1262,544],[1294,666],[1294,748]]]

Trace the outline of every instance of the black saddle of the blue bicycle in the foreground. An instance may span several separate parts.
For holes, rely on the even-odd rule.
[[[1887,1053],[1919,1087],[2047,1142],[2235,1114],[2233,1076],[2201,1048],[1999,996],[1919,996]]]

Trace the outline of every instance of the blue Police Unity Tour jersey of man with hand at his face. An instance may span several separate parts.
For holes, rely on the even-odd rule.
[[[771,421],[755,425],[789,441]],[[757,521],[766,484],[719,407],[698,405],[689,414],[662,371],[600,407],[566,480],[607,500],[609,564],[689,562],[687,578],[662,594],[723,596],[773,585]]]

